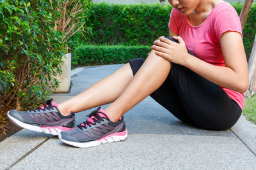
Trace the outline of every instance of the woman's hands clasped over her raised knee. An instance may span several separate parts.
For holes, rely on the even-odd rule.
[[[154,45],[151,46],[150,50],[156,50],[155,53],[159,57],[184,66],[189,55],[185,42],[180,36],[173,36],[173,38],[179,41],[179,43],[161,36],[154,41]]]

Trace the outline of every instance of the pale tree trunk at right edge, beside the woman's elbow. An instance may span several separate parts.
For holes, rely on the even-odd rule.
[[[256,93],[256,36],[254,39],[252,53],[248,62],[249,88],[245,92],[245,97],[250,97]]]

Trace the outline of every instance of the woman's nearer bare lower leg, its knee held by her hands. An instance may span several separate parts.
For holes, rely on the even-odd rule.
[[[157,90],[168,76],[170,68],[170,62],[152,50],[124,92],[106,108],[109,119],[117,122],[128,110]]]

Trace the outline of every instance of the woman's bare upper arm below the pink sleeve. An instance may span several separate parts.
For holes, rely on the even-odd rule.
[[[244,83],[244,88],[247,88],[248,68],[241,34],[231,31],[223,33],[220,45],[225,66],[230,67],[239,77],[239,81]]]

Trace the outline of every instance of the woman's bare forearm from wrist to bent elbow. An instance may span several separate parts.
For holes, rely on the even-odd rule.
[[[189,53],[182,65],[188,67],[195,73],[200,74],[207,80],[227,89],[243,93],[248,88],[246,71],[242,71],[243,73],[241,71],[237,73],[230,67],[214,66],[204,60],[200,60],[197,57],[190,55]]]

